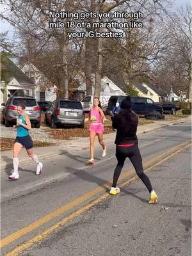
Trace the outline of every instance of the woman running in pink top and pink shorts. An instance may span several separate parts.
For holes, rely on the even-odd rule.
[[[94,164],[94,141],[95,135],[97,134],[100,145],[102,146],[103,152],[102,157],[106,156],[106,145],[102,140],[103,132],[104,132],[104,113],[100,106],[99,98],[95,97],[93,99],[93,108],[90,109],[90,154],[91,159],[88,161],[89,164]]]

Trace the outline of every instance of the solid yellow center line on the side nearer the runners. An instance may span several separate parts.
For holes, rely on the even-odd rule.
[[[191,144],[191,141],[185,141],[184,143],[181,143],[175,147],[172,147],[172,148],[169,148],[168,150],[166,150],[166,152],[164,152],[163,154],[159,154],[158,156],[148,160],[147,162],[143,163],[143,166],[147,166],[148,164],[151,164],[153,163],[154,161],[157,161],[159,159],[161,159],[161,157],[163,156],[166,156],[167,154],[171,154],[171,152],[174,152],[176,150],[179,150],[180,147],[182,147],[182,149],[184,147],[186,147],[186,145],[189,145]],[[165,157],[167,159],[167,157]],[[146,170],[145,170],[146,172]],[[119,180],[122,180],[122,179],[125,179],[125,177],[129,176],[130,174],[134,173],[134,169],[132,168],[131,170],[128,170],[127,172],[123,173],[122,175],[120,175],[120,179]],[[135,179],[135,178],[134,178]],[[12,243],[13,241],[15,241],[16,239],[19,239],[19,237],[21,236],[24,236],[25,234],[31,232],[32,230],[35,230],[35,228],[38,228],[40,226],[42,226],[43,224],[51,221],[52,219],[56,218],[57,216],[60,216],[61,214],[63,214],[63,212],[65,211],[68,211],[70,209],[72,209],[73,207],[76,207],[77,205],[81,204],[82,202],[84,202],[85,200],[88,200],[88,198],[91,198],[92,196],[94,195],[97,195],[97,193],[99,193],[100,191],[104,191],[106,188],[108,188],[108,186],[111,185],[111,182],[112,180],[106,182],[105,184],[103,184],[102,186],[98,186],[97,188],[93,189],[92,191],[89,191],[88,193],[82,195],[82,196],[79,196],[78,198],[76,198],[75,200],[73,200],[72,202],[70,202],[69,204],[67,205],[63,205],[62,207],[56,209],[55,211],[52,211],[50,214],[47,214],[45,215],[44,217],[42,217],[40,220],[37,220],[33,223],[31,223],[30,225],[28,225],[27,227],[24,227],[20,230],[18,230],[17,232],[11,234],[10,236],[7,236],[5,237],[4,239],[1,240],[1,248],[3,246],[6,246],[7,244],[10,244]],[[108,194],[105,194],[104,195],[104,198],[106,197],[106,195]],[[94,201],[93,201],[94,202]],[[82,208],[84,209],[84,207]],[[81,212],[82,210],[79,209],[78,210],[79,212]],[[86,211],[83,210],[83,211]],[[76,213],[74,213],[76,214]],[[79,213],[80,214],[80,213]],[[78,215],[78,214],[77,214]],[[77,216],[75,215],[75,216]],[[74,216],[73,213],[70,214],[70,216]],[[70,220],[71,217],[67,217],[65,218],[66,220]],[[73,217],[74,218],[74,217]],[[54,227],[54,226],[52,226]],[[51,227],[51,228],[52,228]],[[49,228],[50,229],[50,228]],[[49,230],[48,229],[48,230]],[[55,228],[54,228],[55,229]],[[52,229],[51,229],[52,230]],[[45,231],[47,232],[47,231]],[[50,231],[51,232],[51,231]],[[49,233],[50,233],[49,232]],[[44,233],[43,233],[44,234]],[[42,237],[42,234],[40,235],[40,237]],[[20,246],[19,246],[20,247]],[[9,255],[9,254],[8,254]],[[12,255],[12,254],[10,254]],[[13,255],[17,255],[17,254],[13,254]]]

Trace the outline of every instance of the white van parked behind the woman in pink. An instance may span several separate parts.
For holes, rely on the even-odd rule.
[[[108,101],[110,97],[111,95],[100,95],[99,97],[100,104],[104,112],[107,111]],[[81,100],[81,104],[83,106],[84,111],[90,111],[90,108],[93,107],[93,98],[94,98],[93,95],[87,95],[86,97],[83,98],[83,100]]]

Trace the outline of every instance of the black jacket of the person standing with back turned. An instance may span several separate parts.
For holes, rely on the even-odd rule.
[[[138,115],[131,109],[122,109],[113,117],[113,129],[116,129],[115,144],[138,143],[136,136],[138,127]]]

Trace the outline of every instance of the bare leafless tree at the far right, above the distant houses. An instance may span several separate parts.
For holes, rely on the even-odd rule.
[[[161,53],[154,81],[168,91],[188,92],[191,102],[191,6],[186,5],[168,13],[164,22],[168,40]],[[169,44],[168,44],[169,42]]]

